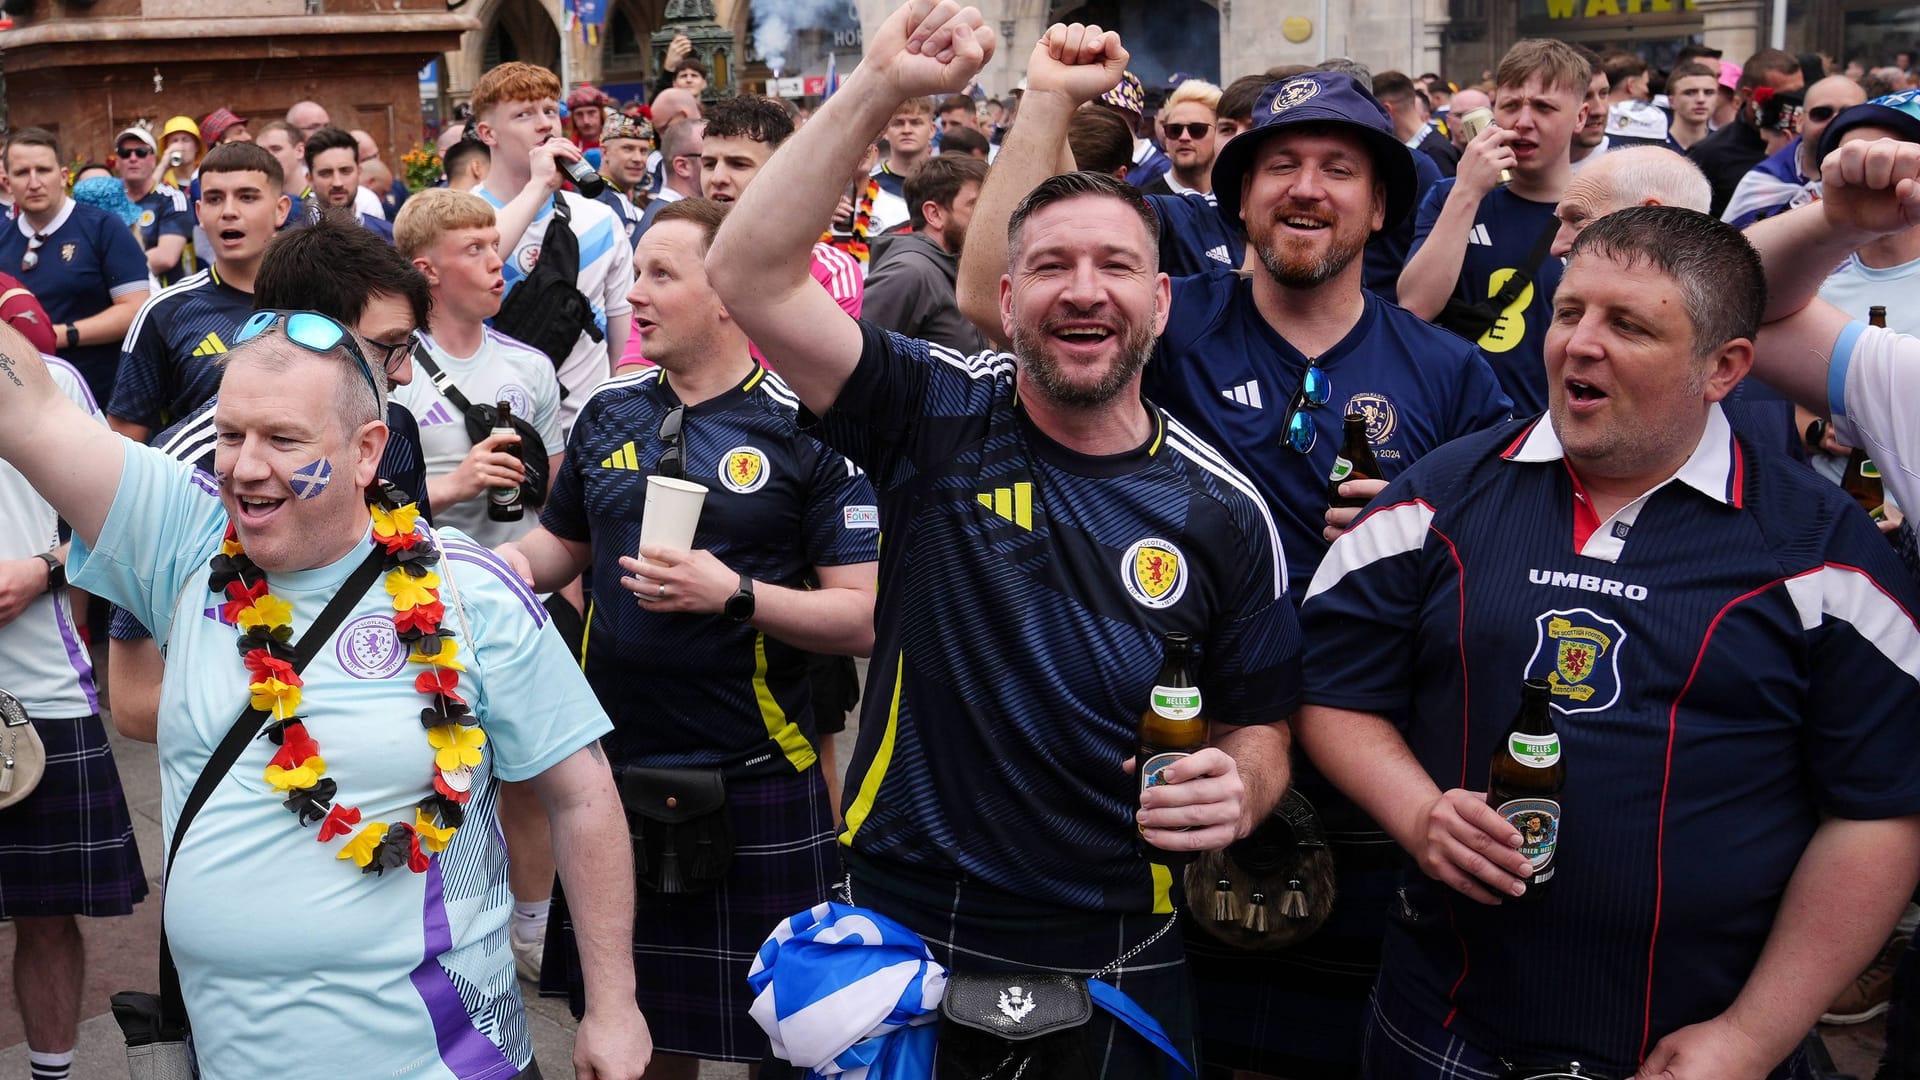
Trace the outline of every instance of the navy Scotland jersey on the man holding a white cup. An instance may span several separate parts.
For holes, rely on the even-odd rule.
[[[660,421],[680,405],[659,367],[603,382],[574,421],[540,523],[593,546],[586,675],[618,763],[795,774],[816,763],[804,655],[726,615],[653,613],[620,578],[637,555]],[[682,413],[685,477],[707,486],[693,548],[755,580],[804,588],[812,567],[872,563],[879,517],[866,477],[799,429],[799,400],[753,369]]]

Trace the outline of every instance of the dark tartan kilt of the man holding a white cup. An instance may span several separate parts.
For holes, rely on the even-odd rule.
[[[758,1063],[766,1032],[747,1015],[747,969],[780,920],[828,899],[839,880],[833,807],[820,769],[730,778],[733,865],[726,884],[693,896],[639,890],[634,905],[634,997],[653,1047],[707,1061]],[[572,917],[553,890],[540,992],[586,1013]]]

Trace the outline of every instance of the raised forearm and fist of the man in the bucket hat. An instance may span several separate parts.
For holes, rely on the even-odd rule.
[[[960,250],[960,311],[1004,346],[1000,279],[1006,277],[1006,223],[1014,208],[1041,181],[1073,169],[1068,127],[1073,110],[1119,85],[1127,50],[1119,35],[1100,27],[1054,23],[1027,60],[1027,92],[1020,98],[1020,123],[1006,135],[1000,156],[987,171],[987,184],[973,206],[966,246]]]

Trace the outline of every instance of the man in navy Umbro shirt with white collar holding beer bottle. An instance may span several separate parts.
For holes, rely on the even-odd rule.
[[[1363,1076],[1809,1076],[1920,876],[1920,598],[1839,488],[1730,429],[1764,302],[1732,227],[1599,219],[1548,415],[1427,455],[1321,563],[1300,744],[1425,872]],[[1549,723],[1515,719],[1528,678]],[[1557,794],[1515,788],[1549,765]]]

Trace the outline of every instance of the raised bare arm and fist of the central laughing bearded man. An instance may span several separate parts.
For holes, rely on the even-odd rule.
[[[881,23],[866,60],[812,123],[781,146],[747,188],[707,254],[707,277],[728,313],[787,386],[826,413],[860,361],[860,329],[816,288],[808,259],[845,177],[895,106],[958,90],[993,56],[993,31],[973,8],[912,0]]]

